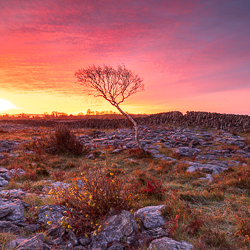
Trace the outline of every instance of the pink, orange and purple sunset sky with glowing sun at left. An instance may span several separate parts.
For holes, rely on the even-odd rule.
[[[129,113],[250,115],[249,0],[0,0],[0,113],[117,111],[77,82],[126,68]]]

